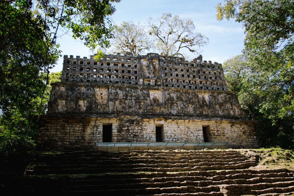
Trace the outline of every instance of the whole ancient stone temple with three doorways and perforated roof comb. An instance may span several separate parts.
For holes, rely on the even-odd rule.
[[[39,120],[41,147],[100,142],[228,142],[257,147],[255,121],[227,90],[221,64],[156,53],[64,56]]]

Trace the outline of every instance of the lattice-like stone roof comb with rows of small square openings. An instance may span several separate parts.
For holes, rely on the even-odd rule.
[[[185,61],[180,57],[147,55],[105,55],[99,61],[64,56],[62,82],[93,82],[165,86],[187,89],[226,90],[221,64],[202,57]]]

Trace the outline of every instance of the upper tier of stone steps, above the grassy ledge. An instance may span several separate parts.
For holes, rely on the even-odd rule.
[[[26,174],[81,174],[103,172],[182,172],[231,170],[255,166],[236,151],[74,152],[40,158]]]

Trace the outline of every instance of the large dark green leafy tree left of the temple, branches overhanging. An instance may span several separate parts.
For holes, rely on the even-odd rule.
[[[39,114],[44,113],[49,69],[61,53],[58,37],[71,31],[92,49],[109,45],[112,2],[119,0],[0,0],[0,136],[4,140],[14,133],[28,137],[36,133],[32,119],[36,104]]]

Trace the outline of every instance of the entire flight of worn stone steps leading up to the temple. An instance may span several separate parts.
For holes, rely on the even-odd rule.
[[[248,169],[257,164],[255,159],[250,160],[236,150],[76,151],[39,155],[26,168],[25,176],[34,179],[34,184],[27,183],[24,192],[31,193],[38,187],[34,193],[44,194],[44,183],[40,185],[39,180],[45,175],[51,176],[50,183],[59,186],[64,195],[294,193],[293,172]],[[54,176],[59,178],[58,182],[52,181]]]

